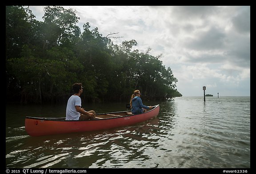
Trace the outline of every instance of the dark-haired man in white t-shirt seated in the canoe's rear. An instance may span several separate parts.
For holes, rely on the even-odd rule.
[[[81,83],[73,84],[74,95],[69,97],[66,108],[66,120],[94,120],[95,111],[85,111],[81,108],[82,102],[79,97],[83,93],[83,87]]]

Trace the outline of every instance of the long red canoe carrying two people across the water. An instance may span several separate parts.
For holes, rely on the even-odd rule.
[[[41,118],[27,116],[25,130],[30,136],[64,134],[71,132],[96,131],[140,123],[156,117],[159,104],[148,112],[133,115],[130,111],[96,114],[95,120],[76,121],[63,118]]]

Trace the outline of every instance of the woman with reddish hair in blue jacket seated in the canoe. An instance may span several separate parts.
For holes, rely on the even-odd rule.
[[[132,94],[130,106],[132,108],[132,114],[140,114],[146,112],[146,109],[152,109],[152,106],[143,105],[139,90],[135,90]]]

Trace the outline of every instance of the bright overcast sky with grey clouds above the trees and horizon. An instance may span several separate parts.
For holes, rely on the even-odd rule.
[[[29,6],[42,21],[45,6]],[[250,96],[250,6],[63,6],[78,26],[136,40],[134,49],[171,67],[183,96]]]

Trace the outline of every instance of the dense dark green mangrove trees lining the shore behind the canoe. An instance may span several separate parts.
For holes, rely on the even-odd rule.
[[[21,104],[66,103],[75,82],[83,84],[82,101],[129,101],[134,90],[143,100],[181,97],[170,67],[134,50],[136,40],[120,45],[117,33],[103,36],[73,9],[46,6],[43,21],[23,6],[6,6],[6,96]],[[115,32],[115,31],[113,31]]]

